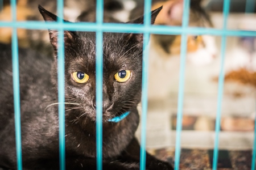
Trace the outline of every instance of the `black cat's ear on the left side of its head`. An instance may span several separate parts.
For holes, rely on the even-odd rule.
[[[44,9],[42,6],[38,6],[38,10],[39,12],[42,14],[44,20],[46,22],[56,22],[57,19],[59,19],[56,15],[52,14],[51,12],[47,11],[46,9]],[[66,20],[64,20],[65,22],[67,22]],[[57,50],[57,35],[58,35],[58,31],[55,29],[48,29],[49,30],[49,38],[51,41],[51,44],[53,46],[53,48],[55,50]],[[75,39],[75,32],[72,31],[64,31],[64,42],[65,45],[69,45],[71,44],[74,39]]]

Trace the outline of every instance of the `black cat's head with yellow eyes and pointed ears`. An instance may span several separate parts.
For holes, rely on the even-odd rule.
[[[162,7],[151,12],[151,23]],[[57,16],[39,6],[47,22]],[[143,23],[143,16],[129,23]],[[53,84],[57,86],[57,35],[49,29],[55,50]],[[103,33],[103,121],[135,109],[141,100],[142,33]],[[65,46],[65,101],[76,103],[72,114],[96,120],[96,33],[64,31]],[[101,48],[101,47],[97,47]],[[77,109],[75,109],[77,108]],[[68,108],[67,108],[68,109]],[[72,109],[72,108],[69,108]],[[66,112],[68,114],[68,112]]]

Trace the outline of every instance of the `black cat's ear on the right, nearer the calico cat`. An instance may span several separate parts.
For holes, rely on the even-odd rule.
[[[158,16],[159,12],[162,10],[163,6],[151,11],[151,24],[155,23],[156,16]],[[135,20],[131,20],[130,22],[127,23],[132,23],[132,24],[143,24],[144,23],[144,16],[141,16]],[[125,36],[125,39],[127,41],[133,40],[137,41],[139,44],[142,45],[143,42],[143,33],[130,33]]]

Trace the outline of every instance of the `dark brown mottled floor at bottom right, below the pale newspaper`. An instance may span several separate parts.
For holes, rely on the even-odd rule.
[[[148,150],[156,158],[165,160],[174,165],[174,148]],[[220,170],[249,170],[251,169],[251,150],[228,151],[220,150],[218,153],[218,169]],[[200,170],[212,169],[213,150],[181,149],[180,169]]]

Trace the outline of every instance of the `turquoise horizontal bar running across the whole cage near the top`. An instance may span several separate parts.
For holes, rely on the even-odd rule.
[[[70,31],[104,31],[104,32],[123,32],[123,33],[143,33],[150,32],[155,34],[179,35],[187,33],[192,35],[215,35],[215,36],[253,36],[256,31],[240,31],[229,29],[199,28],[199,27],[170,27],[167,25],[143,26],[139,24],[122,23],[103,23],[98,27],[96,23],[44,23],[44,22],[0,22],[0,27],[16,27],[26,29],[65,29]]]

